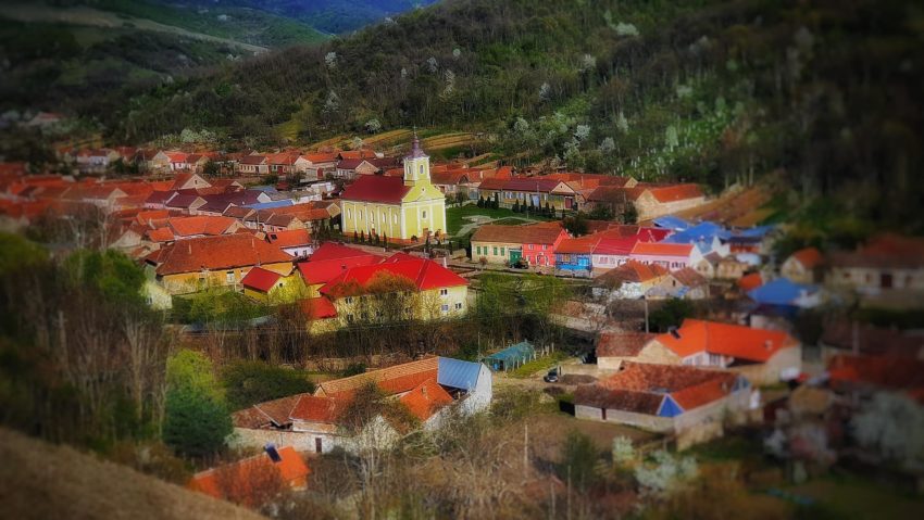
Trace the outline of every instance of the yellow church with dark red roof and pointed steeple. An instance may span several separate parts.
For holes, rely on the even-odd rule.
[[[340,198],[344,233],[423,240],[446,232],[446,195],[433,186],[429,157],[414,134],[403,177],[364,175]]]

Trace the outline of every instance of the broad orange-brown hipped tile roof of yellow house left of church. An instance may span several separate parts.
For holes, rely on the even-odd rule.
[[[152,259],[157,262],[157,274],[161,276],[292,261],[279,248],[246,233],[184,240],[158,253]]]

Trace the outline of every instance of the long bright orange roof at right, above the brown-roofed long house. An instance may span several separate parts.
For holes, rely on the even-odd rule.
[[[685,319],[676,330],[659,335],[658,342],[686,357],[700,352],[764,363],[798,342],[782,330],[752,329],[741,325]]]

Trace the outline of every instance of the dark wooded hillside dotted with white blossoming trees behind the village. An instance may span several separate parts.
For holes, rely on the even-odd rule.
[[[858,215],[920,228],[922,28],[896,0],[448,0],[99,113],[136,141],[487,129],[522,161],[713,188],[785,168],[803,193],[849,186]]]

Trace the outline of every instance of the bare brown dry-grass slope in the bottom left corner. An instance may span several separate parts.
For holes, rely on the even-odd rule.
[[[5,429],[0,429],[0,460],[3,518],[263,518],[129,468]]]

